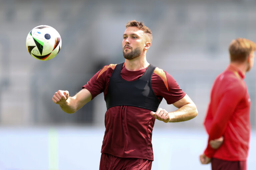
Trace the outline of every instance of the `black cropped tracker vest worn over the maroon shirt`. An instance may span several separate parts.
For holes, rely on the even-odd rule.
[[[151,77],[156,67],[150,64],[140,78],[126,81],[121,77],[123,64],[117,64],[110,77],[105,97],[107,109],[114,106],[134,106],[156,112],[160,101],[151,87]]]

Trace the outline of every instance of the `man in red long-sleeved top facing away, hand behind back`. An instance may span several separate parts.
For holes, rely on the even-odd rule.
[[[230,64],[211,89],[204,126],[209,134],[200,161],[212,170],[246,170],[250,140],[250,97],[244,76],[254,63],[256,44],[247,39],[230,43]]]

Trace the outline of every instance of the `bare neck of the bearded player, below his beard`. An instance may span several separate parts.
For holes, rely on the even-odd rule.
[[[125,59],[125,68],[129,71],[137,71],[147,68],[149,63],[146,60],[146,54],[133,58],[131,60]]]

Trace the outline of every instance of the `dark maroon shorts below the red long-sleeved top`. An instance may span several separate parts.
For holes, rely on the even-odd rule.
[[[246,170],[246,161],[225,161],[212,158],[212,170]]]

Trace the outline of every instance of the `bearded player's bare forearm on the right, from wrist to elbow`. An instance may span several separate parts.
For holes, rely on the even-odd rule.
[[[193,119],[197,116],[198,111],[194,103],[186,104],[180,107],[174,112],[169,112],[170,121],[169,122],[183,122]]]

